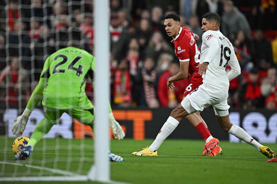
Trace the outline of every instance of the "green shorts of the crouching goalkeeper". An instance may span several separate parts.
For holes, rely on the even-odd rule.
[[[52,123],[58,124],[59,118],[63,113],[70,115],[79,122],[85,125],[90,125],[94,119],[94,108],[84,109],[54,109],[44,106],[45,117]]]

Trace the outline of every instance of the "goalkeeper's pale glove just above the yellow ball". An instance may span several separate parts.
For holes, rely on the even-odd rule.
[[[17,137],[23,134],[30,114],[31,111],[26,108],[22,115],[18,116],[17,118],[14,118],[15,123],[12,126],[11,130],[13,134]]]

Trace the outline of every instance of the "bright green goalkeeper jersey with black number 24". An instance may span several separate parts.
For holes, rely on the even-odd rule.
[[[48,78],[42,105],[55,109],[91,109],[85,93],[86,80],[93,78],[95,58],[87,51],[66,47],[45,61],[41,78]]]

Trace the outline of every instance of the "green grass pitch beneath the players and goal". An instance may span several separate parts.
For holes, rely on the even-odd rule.
[[[93,163],[93,140],[44,139],[34,148],[31,158],[26,161],[14,161],[11,152],[13,138],[1,142],[10,143],[9,150],[5,152],[0,148],[0,161],[23,163],[33,166],[44,166],[80,172],[86,174]],[[158,150],[158,157],[132,156],[133,151],[139,151],[150,145],[153,140],[134,141],[125,139],[112,140],[111,150],[124,158],[122,163],[111,163],[111,179],[127,183],[277,183],[277,163],[266,163],[267,158],[259,153],[253,146],[246,143],[230,143],[221,141],[224,154],[220,157],[203,157],[204,142],[201,140],[172,140],[163,142]],[[47,145],[43,150],[42,145]],[[62,145],[61,147],[57,145]],[[68,145],[73,145],[69,151]],[[80,145],[85,145],[80,151]],[[277,150],[277,144],[266,144]],[[81,147],[82,148],[82,147]],[[44,152],[44,153],[43,153]],[[6,155],[6,156],[5,156]],[[43,162],[43,160],[45,162]],[[71,162],[68,162],[71,160]],[[81,162],[80,162],[81,161]],[[80,166],[80,163],[81,166]],[[0,164],[1,177],[4,176],[42,176],[55,175],[49,171]],[[4,168],[4,170],[3,170]],[[17,175],[14,174],[16,170]],[[59,174],[56,174],[59,175]],[[1,179],[0,179],[1,182]],[[17,183],[18,182],[7,182]],[[30,182],[20,182],[30,183]],[[31,182],[34,183],[34,182]],[[58,182],[38,182],[58,183]],[[66,182],[77,183],[77,182]],[[88,182],[78,182],[88,183]],[[90,182],[91,183],[91,182]]]

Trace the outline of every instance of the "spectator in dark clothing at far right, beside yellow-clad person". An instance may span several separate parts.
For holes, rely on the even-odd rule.
[[[267,70],[273,66],[271,44],[264,37],[262,30],[255,31],[253,45],[255,49],[255,54],[253,55],[254,66],[259,70]]]

